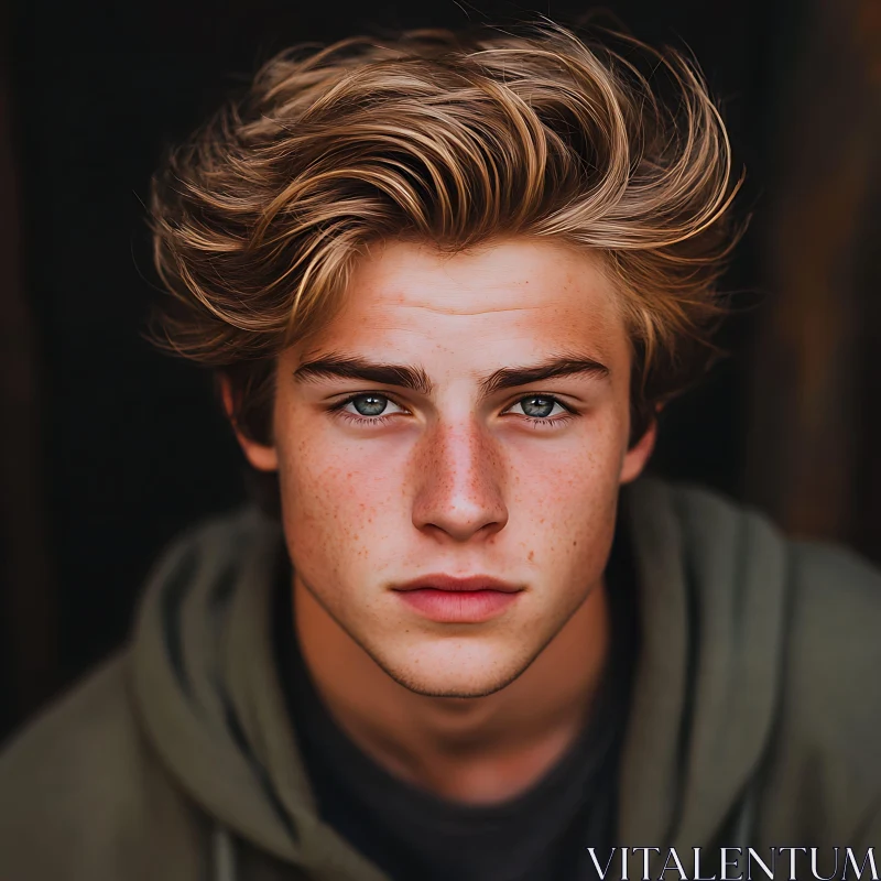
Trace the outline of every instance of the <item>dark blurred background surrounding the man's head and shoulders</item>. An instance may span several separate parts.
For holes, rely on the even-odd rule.
[[[655,470],[881,559],[881,3],[612,0],[689,47],[746,165],[730,358]],[[0,735],[119,644],[183,526],[243,498],[206,374],[142,339],[163,148],[291,42],[587,3],[21,0],[0,13]]]

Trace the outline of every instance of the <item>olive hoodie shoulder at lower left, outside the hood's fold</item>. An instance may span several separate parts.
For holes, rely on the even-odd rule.
[[[162,877],[192,877],[195,820],[141,737],[128,663],[101,665],[0,752],[1,877],[153,877],[160,837],[182,863]]]

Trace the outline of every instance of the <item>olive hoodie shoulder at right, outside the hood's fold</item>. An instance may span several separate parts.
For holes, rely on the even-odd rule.
[[[881,575],[844,547],[787,546],[764,826],[769,836],[867,846],[881,831]]]

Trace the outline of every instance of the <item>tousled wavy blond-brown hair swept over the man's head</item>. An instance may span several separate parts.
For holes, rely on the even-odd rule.
[[[377,240],[599,253],[633,347],[631,437],[701,374],[739,186],[696,66],[621,34],[418,31],[272,58],[153,181],[154,339],[231,382],[269,440],[276,356]]]

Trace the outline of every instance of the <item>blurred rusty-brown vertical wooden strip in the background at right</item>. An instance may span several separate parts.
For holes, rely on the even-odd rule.
[[[744,494],[881,558],[881,3],[814,0],[775,108]]]

